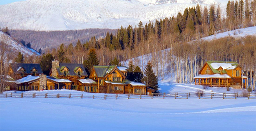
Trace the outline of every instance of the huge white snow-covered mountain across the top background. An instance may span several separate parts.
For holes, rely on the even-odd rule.
[[[0,27],[56,31],[120,28],[172,17],[185,8],[228,0],[26,0],[0,6]]]

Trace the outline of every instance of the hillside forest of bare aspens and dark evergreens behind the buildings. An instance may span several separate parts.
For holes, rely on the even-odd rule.
[[[200,38],[256,26],[256,0],[229,1],[227,17],[223,17],[222,13],[218,5],[209,8],[197,5],[186,8],[176,17],[145,25],[140,22],[135,27],[121,26],[115,34],[108,32],[103,38],[91,37],[88,42],[78,40],[76,44],[61,44],[56,49],[45,50],[39,59],[24,57],[23,62],[40,63],[48,57],[86,66],[89,50],[95,49],[98,64],[108,65],[115,58],[127,61],[151,53],[150,61],[158,79],[163,80],[163,76],[169,73],[175,74],[177,83],[191,83],[206,61],[236,61],[249,78],[247,86],[254,88],[255,82],[251,78],[253,75],[256,78],[253,73],[256,72],[256,36],[226,37],[211,41]],[[140,61],[143,61],[143,57]],[[141,66],[143,69],[145,65]],[[165,67],[168,67],[168,71],[163,70]]]

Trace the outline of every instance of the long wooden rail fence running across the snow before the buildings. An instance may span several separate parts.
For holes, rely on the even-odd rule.
[[[250,93],[152,93],[152,95],[109,94],[109,95],[83,95],[83,94],[52,94],[52,93],[4,93],[0,98],[81,98],[81,99],[256,99],[256,94]]]

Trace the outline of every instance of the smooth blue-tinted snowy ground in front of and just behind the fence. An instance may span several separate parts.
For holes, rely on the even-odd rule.
[[[180,87],[182,86],[185,85]],[[164,86],[160,87],[163,88]],[[61,94],[82,93],[68,90],[36,93],[46,92]],[[85,95],[102,94],[85,93]],[[0,98],[1,131],[255,131],[255,123],[256,99],[166,98],[93,100],[78,98]]]

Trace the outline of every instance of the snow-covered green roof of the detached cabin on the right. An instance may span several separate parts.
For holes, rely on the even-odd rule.
[[[208,66],[211,68],[212,72],[215,74],[221,73],[218,69],[223,69],[223,70],[221,70],[222,73],[226,74],[227,73],[226,70],[235,70],[237,67],[239,67],[238,63],[234,62],[234,61],[207,61],[204,64],[204,67],[206,64],[208,64]],[[199,71],[199,73],[201,73],[203,68]]]

